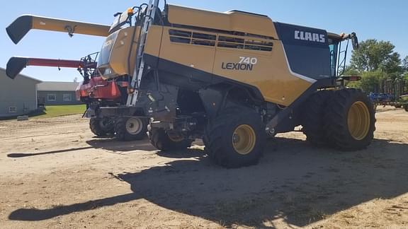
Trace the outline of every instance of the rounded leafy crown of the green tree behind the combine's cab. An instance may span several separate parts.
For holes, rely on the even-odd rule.
[[[401,74],[401,59],[394,51],[391,42],[365,40],[360,43],[360,48],[353,50],[351,55],[351,68],[357,71],[384,71],[387,74]]]

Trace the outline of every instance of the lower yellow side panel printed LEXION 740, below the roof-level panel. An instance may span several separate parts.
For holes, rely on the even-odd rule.
[[[312,84],[291,74],[280,40],[272,41],[273,48],[271,52],[232,49],[228,47],[217,47],[217,45],[202,46],[182,44],[179,42],[171,42],[169,38],[169,30],[171,29],[175,28],[164,27],[160,58],[184,66],[193,67],[194,69],[199,69],[209,74],[215,74],[233,81],[255,86],[268,102],[276,102],[280,105],[288,106]],[[201,30],[180,28],[176,28],[176,30],[216,35],[217,39],[220,36],[226,36],[225,34],[209,33]],[[261,38],[227,36],[246,40],[258,40],[260,42],[265,41],[265,39]],[[269,42],[271,42],[271,40],[269,40]],[[257,63],[254,64],[252,71],[234,71],[222,68],[222,64],[225,66],[225,63],[239,62],[240,57],[257,59]]]

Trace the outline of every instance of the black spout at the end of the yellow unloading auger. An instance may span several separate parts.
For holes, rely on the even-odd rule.
[[[8,37],[17,44],[33,28],[33,16],[21,16],[6,28]]]

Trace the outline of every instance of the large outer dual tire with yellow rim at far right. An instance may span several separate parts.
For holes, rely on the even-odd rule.
[[[324,122],[329,141],[341,150],[361,150],[373,140],[375,111],[361,90],[336,90],[327,106]]]

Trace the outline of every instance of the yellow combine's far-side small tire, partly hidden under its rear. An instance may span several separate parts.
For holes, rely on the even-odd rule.
[[[164,129],[153,128],[148,132],[150,143],[159,151],[178,151],[189,148],[193,140],[183,136],[170,137]]]

